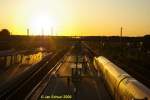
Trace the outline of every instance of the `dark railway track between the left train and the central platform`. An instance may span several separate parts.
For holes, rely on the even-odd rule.
[[[41,62],[32,66],[18,77],[15,77],[0,88],[0,100],[22,100],[39,81],[52,69],[67,50],[48,55]]]

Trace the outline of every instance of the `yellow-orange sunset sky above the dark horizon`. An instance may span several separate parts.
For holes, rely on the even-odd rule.
[[[119,35],[121,26],[150,34],[150,0],[0,0],[0,30],[12,34]]]

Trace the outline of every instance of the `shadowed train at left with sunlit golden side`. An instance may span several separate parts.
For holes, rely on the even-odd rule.
[[[0,68],[9,68],[17,64],[31,65],[39,62],[48,53],[35,50],[0,51]]]

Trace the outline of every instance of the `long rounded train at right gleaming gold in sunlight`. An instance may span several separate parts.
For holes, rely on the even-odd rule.
[[[94,68],[114,100],[150,100],[150,89],[103,56],[94,57]]]

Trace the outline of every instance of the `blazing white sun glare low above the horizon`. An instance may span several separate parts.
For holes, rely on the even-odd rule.
[[[48,15],[34,16],[30,21],[32,35],[55,35],[56,19]]]

